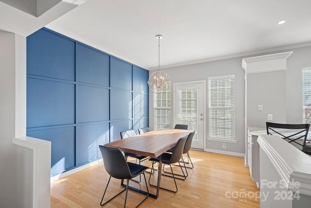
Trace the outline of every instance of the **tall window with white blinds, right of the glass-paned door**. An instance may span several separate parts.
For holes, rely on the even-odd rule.
[[[235,76],[208,78],[209,137],[235,140]]]

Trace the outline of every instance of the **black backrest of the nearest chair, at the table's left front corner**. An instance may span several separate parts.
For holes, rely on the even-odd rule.
[[[118,179],[132,177],[128,164],[120,149],[102,145],[99,145],[99,149],[102,152],[104,167],[110,176]]]

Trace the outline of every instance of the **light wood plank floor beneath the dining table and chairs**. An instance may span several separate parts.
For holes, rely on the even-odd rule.
[[[190,157],[194,169],[188,169],[185,181],[177,180],[178,192],[160,189],[158,199],[149,197],[140,208],[259,208],[259,189],[250,178],[249,169],[244,167],[243,157],[194,150],[190,150]],[[143,164],[151,166],[150,161]],[[178,169],[173,168],[176,173]],[[146,172],[145,175],[148,183],[150,174]],[[108,178],[103,163],[99,163],[52,182],[51,208],[100,208]],[[152,175],[151,181],[153,179],[155,183],[156,174]],[[143,177],[140,184],[130,181],[130,185],[146,188]],[[162,176],[161,186],[173,188],[173,178]],[[155,188],[148,187],[155,193]],[[113,196],[121,189],[120,180],[112,179],[106,195]],[[104,207],[121,208],[124,197],[125,192]],[[126,207],[135,207],[144,197],[129,190]]]

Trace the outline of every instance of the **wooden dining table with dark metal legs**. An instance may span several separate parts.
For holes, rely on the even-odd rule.
[[[160,182],[161,182],[161,168],[162,167],[162,158],[161,154],[169,149],[173,148],[178,141],[178,139],[189,135],[192,130],[182,130],[182,129],[164,129],[146,132],[144,134],[139,134],[136,136],[120,139],[105,144],[106,147],[119,148],[123,152],[140,154],[147,157],[159,157],[159,169],[158,169],[158,178],[156,186],[156,194],[149,194],[153,198],[158,198]],[[121,182],[122,186],[123,181]],[[147,192],[130,187],[129,189],[136,190],[140,193],[147,194]]]

